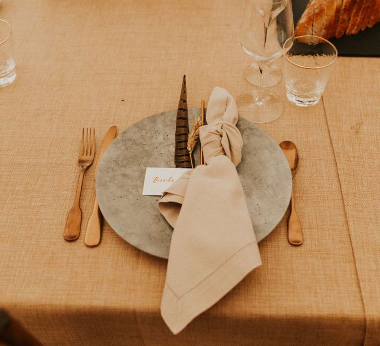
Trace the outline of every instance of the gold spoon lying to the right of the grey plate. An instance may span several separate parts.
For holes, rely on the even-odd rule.
[[[289,140],[281,142],[280,147],[283,149],[287,162],[289,163],[291,176],[294,177],[294,174],[297,172],[298,168],[297,147],[293,142],[290,142]],[[287,240],[290,244],[298,246],[303,243],[303,234],[301,221],[295,212],[293,190],[291,190],[290,206],[290,215],[287,221]]]

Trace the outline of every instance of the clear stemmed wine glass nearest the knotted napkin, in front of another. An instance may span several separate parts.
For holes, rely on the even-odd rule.
[[[294,39],[291,0],[247,0],[239,44],[259,67],[260,88],[240,95],[238,109],[241,116],[254,123],[270,123],[283,113],[281,99],[263,90],[263,70],[266,64],[283,55],[283,44],[288,39]]]

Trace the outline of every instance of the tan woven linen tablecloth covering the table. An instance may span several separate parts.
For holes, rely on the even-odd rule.
[[[159,306],[166,261],[104,227],[99,247],[62,232],[75,194],[80,131],[97,150],[123,130],[216,85],[250,89],[238,47],[244,1],[4,0],[18,76],[0,89],[0,304],[45,345],[379,345],[378,58],[338,58],[323,102],[263,126],[299,148],[295,202],[259,244],[263,265],[173,336]],[[284,97],[284,85],[273,88]],[[98,151],[97,151],[98,152]],[[85,175],[83,227],[94,201]],[[83,229],[82,229],[83,230]]]

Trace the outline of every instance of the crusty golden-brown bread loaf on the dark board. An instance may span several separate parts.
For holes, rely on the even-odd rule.
[[[357,34],[380,22],[380,0],[310,0],[295,35],[325,39]]]

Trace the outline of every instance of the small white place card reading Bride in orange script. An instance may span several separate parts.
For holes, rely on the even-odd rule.
[[[147,167],[142,195],[161,196],[162,193],[190,168]]]

